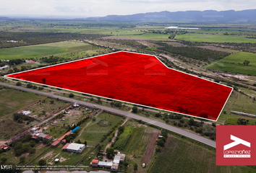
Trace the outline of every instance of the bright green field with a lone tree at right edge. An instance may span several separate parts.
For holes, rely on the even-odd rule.
[[[248,66],[242,64],[244,60],[249,61]],[[256,75],[256,54],[246,52],[234,53],[231,56],[227,56],[219,61],[209,64],[206,68],[237,74]]]

